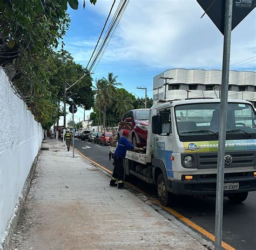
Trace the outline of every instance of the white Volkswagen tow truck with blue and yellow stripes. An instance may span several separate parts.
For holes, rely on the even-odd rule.
[[[214,197],[219,113],[218,99],[159,100],[150,109],[146,152],[127,151],[124,177],[156,185],[164,206],[170,193]],[[256,190],[255,117],[250,102],[228,100],[224,196],[234,203]]]

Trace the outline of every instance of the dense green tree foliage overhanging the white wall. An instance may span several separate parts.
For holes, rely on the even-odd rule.
[[[64,46],[62,38],[70,24],[68,6],[77,9],[78,0],[0,0],[0,66],[44,128],[50,128],[60,115],[64,82],[73,84],[87,73],[68,52],[53,52],[60,43]],[[68,103],[90,109],[91,81],[84,77],[70,88],[77,95],[70,96]]]

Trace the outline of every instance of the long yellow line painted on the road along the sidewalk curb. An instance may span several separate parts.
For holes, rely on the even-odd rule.
[[[76,150],[76,151],[78,152],[78,154],[83,156],[85,159],[87,159],[88,161],[92,162],[93,164],[97,165],[99,168],[105,170],[106,172],[108,172],[108,173],[110,173],[112,175],[112,173],[113,173],[112,171],[110,171],[109,169],[106,169],[103,165],[100,165],[99,163],[93,161],[91,158],[85,156],[84,154],[82,154],[78,150]],[[146,196],[149,196],[146,192],[144,192],[143,190],[137,188],[137,186],[134,186],[132,183],[126,182],[126,184],[131,186],[133,189],[136,189],[138,192],[143,193]],[[187,219],[186,217],[182,216],[180,213],[178,213],[175,210],[171,209],[171,207],[165,207],[165,206],[161,205],[158,199],[153,199],[152,202],[156,203],[157,205],[162,207],[164,210],[166,210],[169,213],[171,213],[173,216],[175,216],[175,217],[179,218],[180,220],[184,221],[187,225],[189,225],[190,227],[194,228],[199,233],[204,234],[207,238],[211,239],[213,242],[215,241],[215,237],[214,237],[213,234],[209,233],[208,231],[204,230],[204,228],[200,227],[196,223],[193,223],[193,221]],[[235,250],[235,248],[233,248],[232,246],[228,245],[224,241],[221,241],[221,246],[224,249],[226,249],[226,250]]]

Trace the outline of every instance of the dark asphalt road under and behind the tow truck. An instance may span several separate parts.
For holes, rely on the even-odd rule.
[[[113,170],[109,161],[109,147],[75,139],[75,148],[93,161]],[[142,180],[134,185],[156,196],[154,186]],[[171,208],[214,235],[215,199],[175,196]],[[235,249],[256,249],[256,192],[250,192],[244,203],[232,204],[224,198],[223,241]]]

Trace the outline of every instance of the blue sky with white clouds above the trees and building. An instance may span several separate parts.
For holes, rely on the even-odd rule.
[[[86,0],[83,9],[79,0],[78,10],[69,8],[65,50],[76,63],[87,65],[112,3],[98,0],[92,5]],[[223,35],[207,15],[200,18],[203,13],[196,0],[130,0],[93,79],[113,72],[127,91],[143,97],[145,91],[137,87],[146,87],[152,97],[153,77],[171,68],[221,70]],[[230,64],[231,70],[256,70],[255,9],[232,31]],[[78,108],[75,122],[83,117]]]

